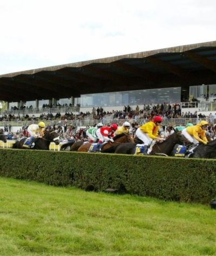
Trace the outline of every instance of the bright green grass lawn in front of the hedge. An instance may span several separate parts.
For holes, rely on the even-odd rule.
[[[0,255],[216,255],[210,206],[0,177],[0,207]]]

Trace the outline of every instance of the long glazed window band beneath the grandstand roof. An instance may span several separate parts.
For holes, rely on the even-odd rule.
[[[81,107],[111,107],[158,103],[180,103],[181,87],[147,89],[139,91],[82,94]]]

